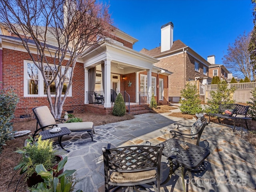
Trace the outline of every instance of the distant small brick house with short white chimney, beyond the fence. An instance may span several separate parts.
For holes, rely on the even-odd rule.
[[[215,56],[210,55],[207,57],[207,61],[210,63],[209,66],[209,77],[218,76],[220,80],[227,80],[229,71],[222,64],[215,64]]]

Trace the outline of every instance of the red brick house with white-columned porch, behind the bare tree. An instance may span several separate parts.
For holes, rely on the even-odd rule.
[[[133,44],[137,41],[116,29],[115,40],[101,42],[84,52],[76,63],[72,88],[66,98],[63,113],[87,110],[107,114],[113,106],[111,90],[116,93],[126,91],[130,95],[130,102],[136,103],[140,102],[140,92],[150,93],[148,96],[154,93],[157,102],[167,104],[168,76],[172,73],[153,66],[158,59],[133,50]],[[32,41],[31,51],[36,54]],[[49,56],[47,59],[52,58]],[[12,89],[18,94],[15,121],[32,114],[33,107],[49,106],[44,80],[35,67],[19,38],[1,29],[0,82],[3,82],[3,89]],[[95,82],[89,80],[92,68],[96,70]],[[95,84],[94,90],[89,90],[90,84]],[[103,95],[104,100],[100,105],[94,104],[92,92]]]

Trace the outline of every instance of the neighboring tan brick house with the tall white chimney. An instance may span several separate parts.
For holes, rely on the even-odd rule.
[[[209,84],[212,78],[208,77],[208,61],[182,41],[173,42],[173,27],[172,22],[161,27],[161,46],[152,50],[144,48],[140,52],[160,60],[154,66],[173,72],[169,76],[169,101],[178,102],[186,82],[198,80],[201,84]]]

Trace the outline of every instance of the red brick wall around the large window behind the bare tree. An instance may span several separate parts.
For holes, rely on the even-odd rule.
[[[51,63],[52,58],[47,58]],[[24,97],[24,60],[31,60],[28,53],[3,49],[3,88],[14,90],[19,97],[14,121],[20,120],[20,115],[31,114],[36,106],[49,106],[47,97]],[[54,98],[52,98],[54,100]],[[63,112],[84,110],[84,69],[82,63],[76,63],[72,85],[72,97],[67,97]]]

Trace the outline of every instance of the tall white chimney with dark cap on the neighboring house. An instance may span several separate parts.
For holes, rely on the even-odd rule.
[[[173,44],[173,23],[169,22],[161,27],[161,52],[170,50]]]

